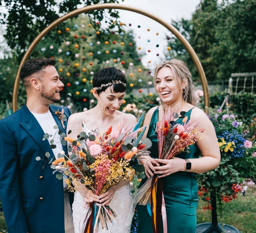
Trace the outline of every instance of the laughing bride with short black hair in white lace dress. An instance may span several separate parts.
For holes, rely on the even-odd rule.
[[[93,95],[97,99],[97,105],[86,112],[76,113],[69,117],[67,132],[72,138],[77,138],[81,131],[92,134],[105,132],[112,125],[123,123],[125,126],[136,124],[136,117],[118,111],[123,104],[126,90],[126,79],[124,74],[114,67],[103,68],[93,77]],[[117,214],[115,222],[108,222],[108,230],[101,229],[98,232],[128,233],[130,232],[131,219],[127,219],[127,211],[131,205],[131,189],[129,181],[122,181],[109,188],[101,196],[89,191],[84,185],[76,187],[73,202],[73,222],[75,233],[83,232],[83,222],[88,211],[89,202],[99,202],[109,205]]]

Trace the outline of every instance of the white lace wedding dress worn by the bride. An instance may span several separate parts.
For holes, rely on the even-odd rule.
[[[82,115],[81,115],[82,116]],[[82,116],[83,117],[83,116]],[[84,119],[83,119],[84,124]],[[83,131],[86,133],[92,133],[84,124]],[[83,233],[83,222],[87,215],[87,212],[91,212],[91,209],[84,208],[84,201],[81,194],[77,191],[75,192],[74,202],[72,205],[73,209],[73,222],[75,233]],[[115,222],[108,222],[108,230],[102,229],[99,226],[98,233],[129,233],[131,228],[131,221],[133,217],[133,210],[131,208],[132,199],[131,199],[131,188],[130,184],[127,184],[120,189],[118,189],[113,199],[111,200],[109,206],[116,213],[117,217]],[[88,213],[87,218],[90,213]],[[85,220],[87,222],[87,220]]]

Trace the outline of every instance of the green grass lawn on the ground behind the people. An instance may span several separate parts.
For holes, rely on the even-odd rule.
[[[211,222],[211,211],[204,210],[204,202],[199,201],[197,208],[197,223]],[[239,193],[236,200],[223,203],[223,209],[218,210],[218,222],[236,227],[241,233],[256,232],[256,185],[249,186],[242,196]],[[0,233],[6,232],[3,212],[0,213]]]

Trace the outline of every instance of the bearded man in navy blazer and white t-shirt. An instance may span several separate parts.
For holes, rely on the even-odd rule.
[[[50,105],[60,101],[59,91],[64,85],[54,59],[33,58],[25,62],[20,77],[27,101],[0,121],[0,198],[8,233],[74,232],[70,204],[64,208],[63,180],[55,177],[49,164],[56,151],[48,140],[42,140],[54,124],[66,133],[67,121],[61,122],[55,112],[63,109],[69,117],[70,110]],[[61,150],[67,154],[66,146],[61,145]],[[46,152],[50,153],[49,158]],[[65,203],[68,199],[72,202],[68,196],[66,193]]]

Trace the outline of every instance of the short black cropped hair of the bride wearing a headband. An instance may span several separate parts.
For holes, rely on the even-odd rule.
[[[106,67],[99,70],[94,76],[92,80],[93,87],[100,87],[102,84],[111,83],[112,81],[121,81],[126,84],[125,75],[122,71],[116,69],[115,67]],[[97,94],[99,95],[101,92],[106,91],[107,87],[102,87],[100,90],[97,90]],[[111,91],[114,93],[125,92],[126,87],[123,84],[113,84],[111,86]]]

